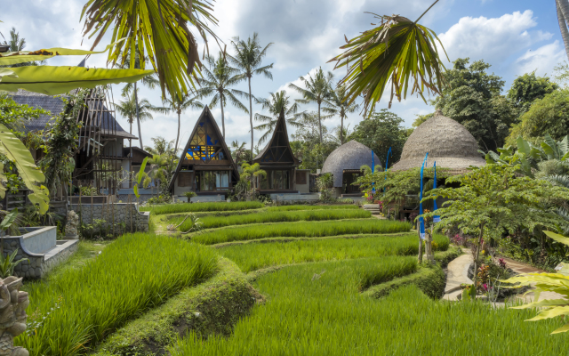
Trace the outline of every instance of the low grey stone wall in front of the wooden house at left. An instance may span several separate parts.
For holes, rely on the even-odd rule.
[[[104,220],[107,223],[105,228],[109,230],[112,229],[113,223],[116,226],[124,223],[128,232],[148,231],[150,213],[139,213],[136,203],[72,205],[69,209],[79,214],[79,221],[84,224],[92,224],[93,220]]]

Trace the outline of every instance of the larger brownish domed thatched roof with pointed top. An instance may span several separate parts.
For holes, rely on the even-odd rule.
[[[462,174],[469,166],[485,165],[474,136],[463,125],[443,116],[440,110],[413,131],[403,146],[401,159],[391,169],[405,171],[421,167],[427,152],[427,166],[437,161],[437,167],[448,168],[449,174]]]

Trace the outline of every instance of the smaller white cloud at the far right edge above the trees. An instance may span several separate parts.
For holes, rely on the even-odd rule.
[[[515,68],[518,75],[533,72],[536,75],[545,76],[553,74],[553,68],[560,62],[567,61],[565,48],[559,41],[552,44],[542,45],[537,50],[528,50],[520,56],[515,62]]]

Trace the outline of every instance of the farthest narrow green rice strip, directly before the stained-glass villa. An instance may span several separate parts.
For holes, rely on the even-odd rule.
[[[258,209],[264,205],[258,201],[237,201],[232,203],[180,203],[160,206],[140,206],[140,211],[149,211],[155,215],[175,213],[195,213],[210,211],[231,211]]]

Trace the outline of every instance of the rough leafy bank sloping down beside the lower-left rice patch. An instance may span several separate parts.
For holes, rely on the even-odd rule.
[[[203,337],[229,336],[259,299],[236,264],[221,258],[220,271],[212,279],[184,289],[133,320],[101,344],[95,355],[164,354],[165,346],[188,330]]]

